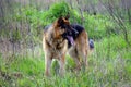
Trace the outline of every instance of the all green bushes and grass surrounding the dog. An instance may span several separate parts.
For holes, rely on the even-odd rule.
[[[55,62],[52,76],[45,77],[45,59],[41,49],[44,27],[68,13],[70,13],[70,22],[84,26],[88,37],[94,39],[95,49],[87,58],[88,69],[85,72],[74,71],[75,64],[67,55],[66,75],[60,77],[56,73],[59,66]],[[3,50],[0,51],[0,86],[2,87],[131,86],[130,22],[122,22],[126,29],[121,29],[109,14],[87,12],[81,14],[67,2],[58,2],[51,4],[48,10],[39,10],[35,5],[16,5],[13,13],[4,17],[3,24],[10,26],[0,29],[0,39],[2,41],[8,39],[13,48],[10,50],[7,47],[9,50],[5,53]]]

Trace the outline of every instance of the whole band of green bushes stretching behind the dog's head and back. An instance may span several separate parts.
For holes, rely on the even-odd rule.
[[[91,15],[84,13],[84,20],[82,22],[79,11],[71,9],[66,2],[55,3],[47,11],[38,11],[36,8],[31,7],[22,8],[21,13],[17,11],[14,15],[15,20],[25,20],[36,34],[39,33],[39,27],[44,28],[44,26],[51,24],[58,17],[66,16],[67,14],[70,14],[71,23],[83,23],[82,26],[85,27],[91,38],[103,38],[106,37],[110,32],[112,34],[117,34],[115,24],[110,21],[110,17],[100,14]]]

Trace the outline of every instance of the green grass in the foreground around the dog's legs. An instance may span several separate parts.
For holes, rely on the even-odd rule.
[[[119,41],[118,41],[119,39]],[[109,46],[110,45],[110,46]],[[40,49],[41,50],[41,49]],[[13,55],[12,61],[0,59],[2,87],[130,87],[131,47],[126,49],[121,36],[95,41],[94,52],[88,57],[85,72],[72,71],[74,62],[67,57],[63,77],[52,73],[44,75],[44,54],[40,59],[31,55]],[[52,64],[52,71],[56,64]]]

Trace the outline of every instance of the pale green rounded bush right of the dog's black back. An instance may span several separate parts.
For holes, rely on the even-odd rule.
[[[109,17],[105,15],[88,15],[84,14],[85,22],[84,26],[88,33],[91,38],[99,39],[103,37],[107,37],[108,34],[115,29],[114,23],[109,20]],[[116,34],[116,32],[111,32],[111,34]]]

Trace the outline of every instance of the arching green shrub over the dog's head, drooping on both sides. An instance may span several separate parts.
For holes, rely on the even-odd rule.
[[[78,11],[72,10],[67,2],[59,2],[52,4],[48,11],[43,13],[44,25],[52,23],[60,16],[67,16],[67,14],[70,14],[71,22],[81,22]]]

